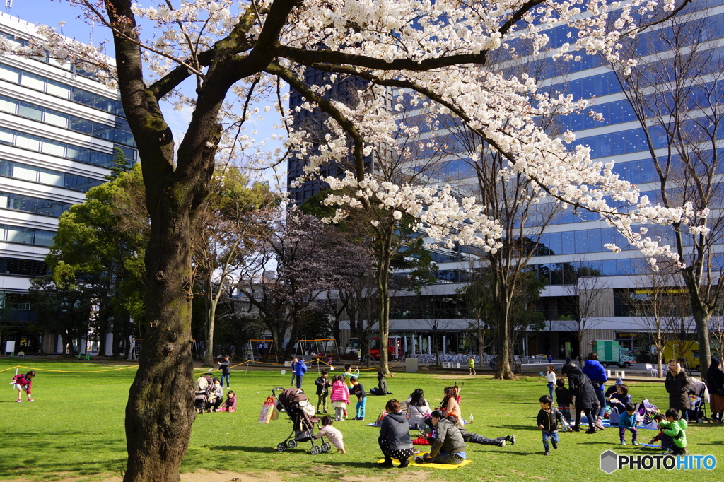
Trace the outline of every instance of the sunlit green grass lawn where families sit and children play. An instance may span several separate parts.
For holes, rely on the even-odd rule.
[[[18,360],[0,360],[0,370],[14,367]],[[0,479],[3,480],[100,480],[119,475],[125,467],[123,416],[128,387],[135,368],[104,373],[83,373],[118,368],[89,363],[20,360],[38,371],[33,381],[34,403],[16,403],[14,391],[6,389],[0,397]],[[42,371],[55,370],[55,371]],[[21,371],[28,371],[22,368]],[[74,373],[64,373],[72,371]],[[375,371],[363,372],[366,388],[376,385]],[[2,374],[12,380],[14,369]],[[316,373],[308,373],[304,387],[313,394]],[[232,372],[231,388],[238,395],[236,413],[198,415],[190,447],[182,464],[182,473],[199,469],[230,470],[262,475],[274,472],[287,481],[399,479],[430,481],[481,481],[500,478],[515,480],[583,481],[632,478],[636,481],[721,481],[724,480],[724,426],[696,423],[687,437],[691,454],[717,457],[715,470],[618,470],[607,475],[599,470],[599,457],[607,449],[618,454],[638,454],[628,445],[618,445],[618,429],[609,428],[594,435],[560,434],[560,448],[549,457],[542,455],[540,431],[536,428],[538,398],[547,394],[543,379],[495,381],[489,376],[442,376],[397,373],[388,379],[390,390],[404,399],[413,389],[424,389],[431,405],[442,399],[443,387],[453,379],[466,379],[460,403],[463,416],[475,415],[468,430],[484,436],[515,434],[511,447],[487,447],[468,444],[468,458],[474,462],[456,470],[407,468],[380,469],[374,463],[381,456],[377,446],[378,429],[364,426],[374,422],[389,397],[369,397],[367,420],[335,423],[345,434],[348,454],[329,452],[312,456],[310,444],[287,452],[274,448],[291,429],[288,418],[269,425],[257,423],[261,405],[274,386],[288,386],[290,377],[279,372]],[[9,386],[9,385],[6,385]],[[632,382],[635,400],[648,398],[665,407],[667,394],[663,384]],[[316,396],[311,398],[316,402]],[[354,410],[352,406],[352,410]],[[352,412],[353,413],[353,412]],[[353,416],[353,415],[352,415]],[[639,431],[639,439],[648,441],[654,431]]]

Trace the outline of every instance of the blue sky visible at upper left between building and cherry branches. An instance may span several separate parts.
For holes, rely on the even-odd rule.
[[[101,41],[108,40],[106,45],[111,50],[108,52],[109,55],[113,55],[113,43],[110,41],[110,35],[108,30],[103,26],[96,26],[91,29],[90,25],[85,20],[78,18],[80,10],[71,7],[66,0],[1,0],[0,8],[4,8],[4,11],[11,14],[14,17],[18,17],[26,22],[33,24],[45,24],[51,27],[59,28],[61,33],[67,37],[75,38],[77,41],[84,43],[94,43],[98,45]],[[8,7],[8,4],[12,4],[12,7]],[[59,27],[59,22],[65,22],[62,27]],[[260,106],[261,107],[261,106]],[[174,132],[174,138],[178,142],[182,138],[186,127],[190,120],[192,111],[190,108],[185,108],[182,111],[174,111],[170,106],[167,106],[164,110],[164,118]],[[261,110],[261,109],[260,109]],[[251,122],[251,121],[250,121]],[[271,140],[271,134],[274,132],[274,124],[279,123],[277,113],[272,109],[269,112],[264,112],[264,120],[254,121],[253,124],[247,125],[248,131],[256,130],[258,135],[254,136],[256,140],[269,139],[266,144],[266,148],[274,149],[275,146],[279,145],[277,141]],[[285,168],[285,166],[284,166]],[[264,172],[264,179],[269,181],[270,185],[274,187],[277,184],[277,179],[284,181],[286,179],[281,170],[279,174],[274,176],[271,169]],[[282,188],[285,186],[282,183]]]

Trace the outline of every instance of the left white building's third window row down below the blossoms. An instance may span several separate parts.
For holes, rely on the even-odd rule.
[[[18,130],[5,129],[0,127],[0,143],[14,145],[19,148],[30,149],[30,151],[51,154],[51,156],[59,156],[72,161],[92,164],[93,166],[101,166],[111,168],[114,165],[114,155],[93,149],[83,148],[78,145],[60,143],[57,140],[41,138],[37,135],[20,132]],[[114,145],[125,153],[126,158],[135,159],[136,150],[127,148],[124,145]]]

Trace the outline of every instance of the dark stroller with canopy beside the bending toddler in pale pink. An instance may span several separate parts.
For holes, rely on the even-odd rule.
[[[279,394],[277,394],[279,392]],[[314,444],[314,429],[319,429],[319,418],[314,415],[314,407],[309,402],[309,397],[304,394],[302,389],[277,386],[271,389],[271,396],[277,401],[277,410],[285,412],[292,420],[292,431],[285,441],[277,444],[277,450],[284,452],[286,449],[297,447],[298,442],[310,441],[312,444],[309,453],[312,455],[321,452],[329,452],[332,444],[324,441],[321,437],[321,445]]]

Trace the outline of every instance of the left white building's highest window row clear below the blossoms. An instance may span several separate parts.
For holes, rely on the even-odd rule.
[[[114,98],[108,98],[96,93],[88,92],[81,88],[72,87],[71,85],[50,80],[41,75],[30,74],[24,70],[10,67],[9,65],[0,63],[0,79],[8,80],[26,87],[47,92],[54,96],[67,98],[70,101],[82,103],[84,106],[101,109],[101,111],[111,112],[119,116],[124,115],[123,105]]]

